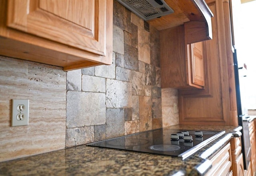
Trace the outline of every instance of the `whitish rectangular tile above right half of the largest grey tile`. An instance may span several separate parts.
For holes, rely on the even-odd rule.
[[[83,75],[82,90],[86,92],[106,92],[106,78]]]

